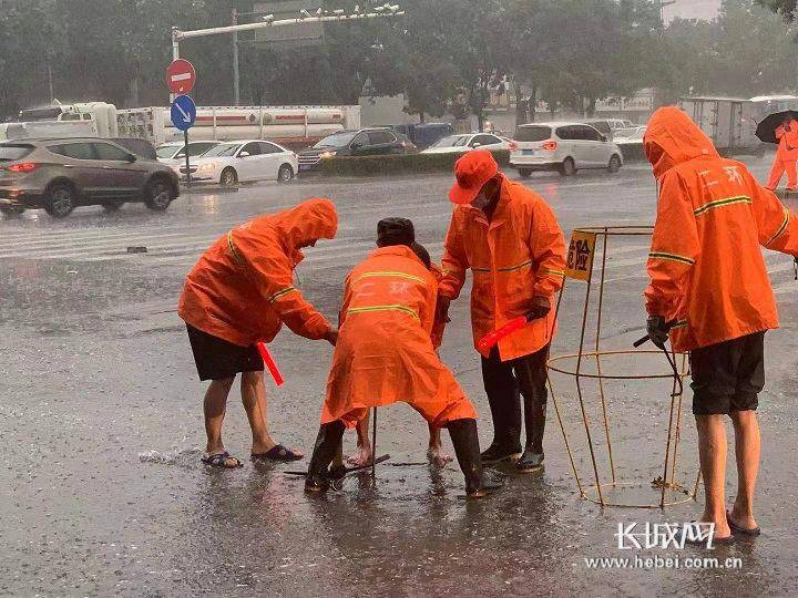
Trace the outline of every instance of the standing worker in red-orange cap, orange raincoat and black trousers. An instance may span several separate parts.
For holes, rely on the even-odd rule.
[[[469,152],[454,174],[449,197],[457,207],[446,238],[437,319],[446,320],[471,269],[474,346],[513,319],[530,320],[481,353],[493,417],[493,443],[482,460],[521,455],[521,394],[526,444],[515,465],[532,472],[543,465],[546,359],[555,327],[552,297],[563,283],[565,240],[543,198],[509,181],[490,152]]]

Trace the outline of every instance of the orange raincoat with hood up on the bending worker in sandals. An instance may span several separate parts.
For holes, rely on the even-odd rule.
[[[272,341],[282,322],[307,339],[324,338],[332,327],[294,286],[294,268],[304,258],[300,247],[331,239],[337,229],[329,199],[308,199],[234,228],[188,274],[180,317],[241,347]]]

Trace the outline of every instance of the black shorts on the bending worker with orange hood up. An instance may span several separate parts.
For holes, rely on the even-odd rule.
[[[224,380],[241,372],[262,372],[257,347],[239,347],[186,324],[200,380]]]

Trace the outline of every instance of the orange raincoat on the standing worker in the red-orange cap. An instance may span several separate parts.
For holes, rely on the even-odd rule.
[[[473,272],[471,327],[477,347],[485,334],[526,316],[533,297],[552,297],[560,290],[565,239],[545,200],[502,176],[499,205],[490,224],[479,208],[468,204],[454,208],[442,267],[440,292],[449,299],[460,295],[466,270]],[[553,333],[552,305],[549,316],[502,339],[499,355],[509,361],[532,354],[549,344]]]

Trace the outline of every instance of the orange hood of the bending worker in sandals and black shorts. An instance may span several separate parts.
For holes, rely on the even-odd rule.
[[[297,207],[275,214],[272,225],[279,230],[285,249],[297,251],[319,239],[332,239],[338,230],[338,213],[329,199],[315,197]]]

